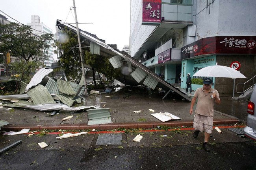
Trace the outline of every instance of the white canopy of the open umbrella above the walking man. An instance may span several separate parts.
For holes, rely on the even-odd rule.
[[[240,71],[235,70],[234,68],[226,66],[208,66],[200,69],[193,75],[193,77],[226,77],[226,78],[246,78]]]

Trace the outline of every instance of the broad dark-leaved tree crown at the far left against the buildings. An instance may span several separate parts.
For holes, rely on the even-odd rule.
[[[24,59],[25,61],[43,61],[46,57],[44,49],[49,48],[53,34],[44,33],[40,37],[32,33],[29,26],[20,25],[15,22],[0,24],[0,46],[1,53],[10,51],[10,55]]]

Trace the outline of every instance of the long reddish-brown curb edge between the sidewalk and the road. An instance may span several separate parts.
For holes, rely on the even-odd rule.
[[[238,119],[219,119],[214,120],[213,125],[223,125],[223,124],[236,124]],[[145,128],[152,129],[157,128],[157,126],[169,126],[169,127],[182,127],[182,126],[193,126],[193,121],[179,121],[179,122],[129,122],[129,123],[110,123],[110,124],[97,124],[97,125],[87,125],[85,123],[77,124],[45,124],[38,127],[37,124],[8,124],[1,127],[1,131],[20,131],[24,128],[30,130],[84,130],[84,129],[98,129],[98,130],[113,130],[118,128],[126,129],[137,129]]]

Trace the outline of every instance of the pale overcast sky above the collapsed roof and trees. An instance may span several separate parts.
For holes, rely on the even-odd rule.
[[[75,0],[79,28],[117,44],[121,50],[129,45],[130,0]],[[31,15],[39,15],[41,22],[56,33],[56,20],[75,23],[73,0],[1,0],[0,10],[22,24],[31,23]],[[0,12],[1,15],[5,15]],[[6,16],[6,15],[5,15]],[[9,16],[9,21],[15,22]],[[74,26],[76,26],[74,24]]]

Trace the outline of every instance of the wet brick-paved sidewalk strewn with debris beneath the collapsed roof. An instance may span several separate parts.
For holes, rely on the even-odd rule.
[[[110,96],[110,97],[106,97]],[[100,104],[101,108],[110,108],[111,119],[113,123],[87,125],[87,112],[64,112],[58,115],[49,116],[52,111],[43,112],[30,109],[13,108],[6,110],[7,107],[0,108],[0,120],[8,121],[9,124],[2,126],[2,130],[20,130],[30,128],[31,130],[40,129],[100,129],[109,130],[116,128],[156,128],[159,125],[165,126],[192,126],[193,115],[189,114],[190,102],[176,99],[175,96],[168,95],[164,100],[164,93],[152,93],[150,91],[124,91],[123,93],[102,93],[99,95],[90,95],[84,97],[82,104],[85,106],[95,106]],[[75,104],[78,106],[78,104]],[[75,107],[73,106],[73,107]],[[158,112],[169,112],[180,120],[161,122],[151,115],[148,109]],[[134,113],[133,111],[142,112]],[[195,110],[195,108],[194,108]],[[73,115],[71,120],[62,121],[64,117]],[[235,124],[239,122],[236,117],[226,115],[215,111],[214,124]],[[37,125],[42,125],[38,127]]]

